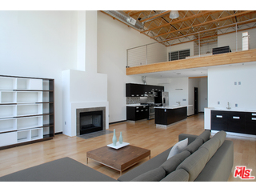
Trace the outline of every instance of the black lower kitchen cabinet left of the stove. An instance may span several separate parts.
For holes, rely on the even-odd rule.
[[[126,119],[138,121],[149,118],[149,106],[126,106]]]

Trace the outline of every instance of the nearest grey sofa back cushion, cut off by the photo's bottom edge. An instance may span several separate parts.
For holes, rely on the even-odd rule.
[[[174,172],[168,174],[160,182],[188,182],[190,174],[186,170],[175,170]]]

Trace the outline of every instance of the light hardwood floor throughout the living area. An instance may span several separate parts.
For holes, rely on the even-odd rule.
[[[120,131],[124,142],[151,150],[151,158],[174,146],[178,142],[178,134],[201,134],[204,130],[203,114],[193,115],[185,121],[178,122],[169,128],[156,128],[154,120],[141,122],[122,122],[110,125],[110,130],[116,130],[117,138]],[[83,139],[68,137],[58,134],[54,139],[46,142],[38,142],[26,146],[18,146],[7,150],[0,150],[0,177],[14,173],[31,166],[37,166],[44,162],[50,162],[58,158],[70,157],[86,165],[86,151],[106,146],[112,142],[113,134],[106,134],[97,138]],[[234,167],[246,166],[252,169],[251,175],[256,176],[256,138],[230,137],[234,142]],[[145,158],[142,162],[147,161]],[[102,166],[98,162],[90,160],[88,166],[117,179],[119,172],[109,167]],[[134,167],[134,166],[133,166]],[[132,169],[131,167],[130,169]],[[242,179],[234,178],[234,167],[229,181],[240,182]],[[126,170],[129,171],[130,169]],[[123,172],[123,174],[126,173]],[[253,180],[256,181],[255,179]]]

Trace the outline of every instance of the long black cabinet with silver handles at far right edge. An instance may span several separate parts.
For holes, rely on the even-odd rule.
[[[256,134],[256,113],[212,110],[211,130]]]

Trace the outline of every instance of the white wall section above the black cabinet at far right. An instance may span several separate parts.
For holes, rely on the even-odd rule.
[[[256,62],[238,66],[219,66],[208,70],[208,106],[256,109]],[[234,85],[237,82],[237,85]],[[241,82],[241,85],[238,85]],[[218,102],[220,104],[218,105]],[[238,107],[235,107],[238,104]]]

